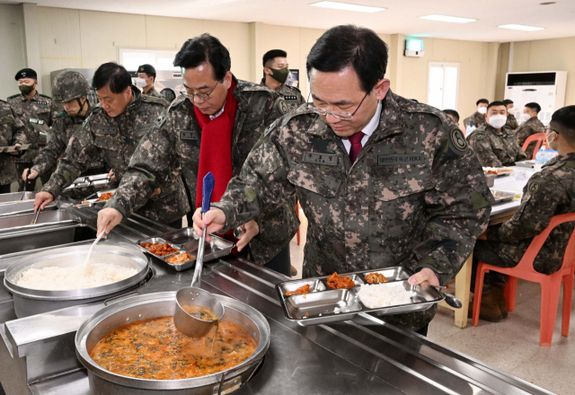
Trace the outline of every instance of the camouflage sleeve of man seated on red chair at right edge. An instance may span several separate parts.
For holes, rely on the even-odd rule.
[[[569,196],[553,176],[536,173],[526,185],[517,213],[496,232],[487,233],[488,240],[519,241],[535,237],[549,225],[557,206],[569,205]]]

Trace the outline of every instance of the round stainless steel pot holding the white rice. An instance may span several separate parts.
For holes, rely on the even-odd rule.
[[[28,317],[125,294],[138,287],[146,278],[149,258],[139,249],[129,244],[103,244],[94,247],[92,252],[94,258],[101,258],[107,263],[136,268],[137,274],[117,283],[70,291],[45,291],[15,284],[22,270],[28,268],[82,265],[89,249],[90,245],[45,250],[25,256],[10,265],[4,274],[4,286],[13,294],[16,316],[18,318]]]

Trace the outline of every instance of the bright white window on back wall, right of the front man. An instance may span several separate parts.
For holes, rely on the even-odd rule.
[[[428,104],[439,110],[457,110],[459,64],[429,62]]]

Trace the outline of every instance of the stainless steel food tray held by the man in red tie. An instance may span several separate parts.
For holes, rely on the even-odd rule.
[[[369,309],[361,303],[358,297],[361,285],[367,284],[365,276],[369,273],[383,274],[388,279],[388,282],[383,283],[385,286],[403,287],[411,294],[411,303]],[[349,276],[356,286],[349,289],[330,289],[327,286],[327,276],[285,281],[276,285],[286,318],[306,327],[353,320],[360,312],[373,313],[378,316],[419,312],[444,300],[444,297],[433,287],[424,290],[419,285],[409,284],[407,279],[411,276],[411,272],[405,268],[370,269],[340,276]],[[306,284],[310,285],[308,294],[286,295],[288,291],[295,291]]]

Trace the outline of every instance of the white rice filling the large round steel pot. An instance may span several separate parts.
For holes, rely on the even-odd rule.
[[[135,274],[136,268],[126,268],[113,263],[90,263],[88,269],[84,265],[64,268],[51,266],[29,268],[20,274],[15,284],[46,291],[69,291],[117,283]]]

